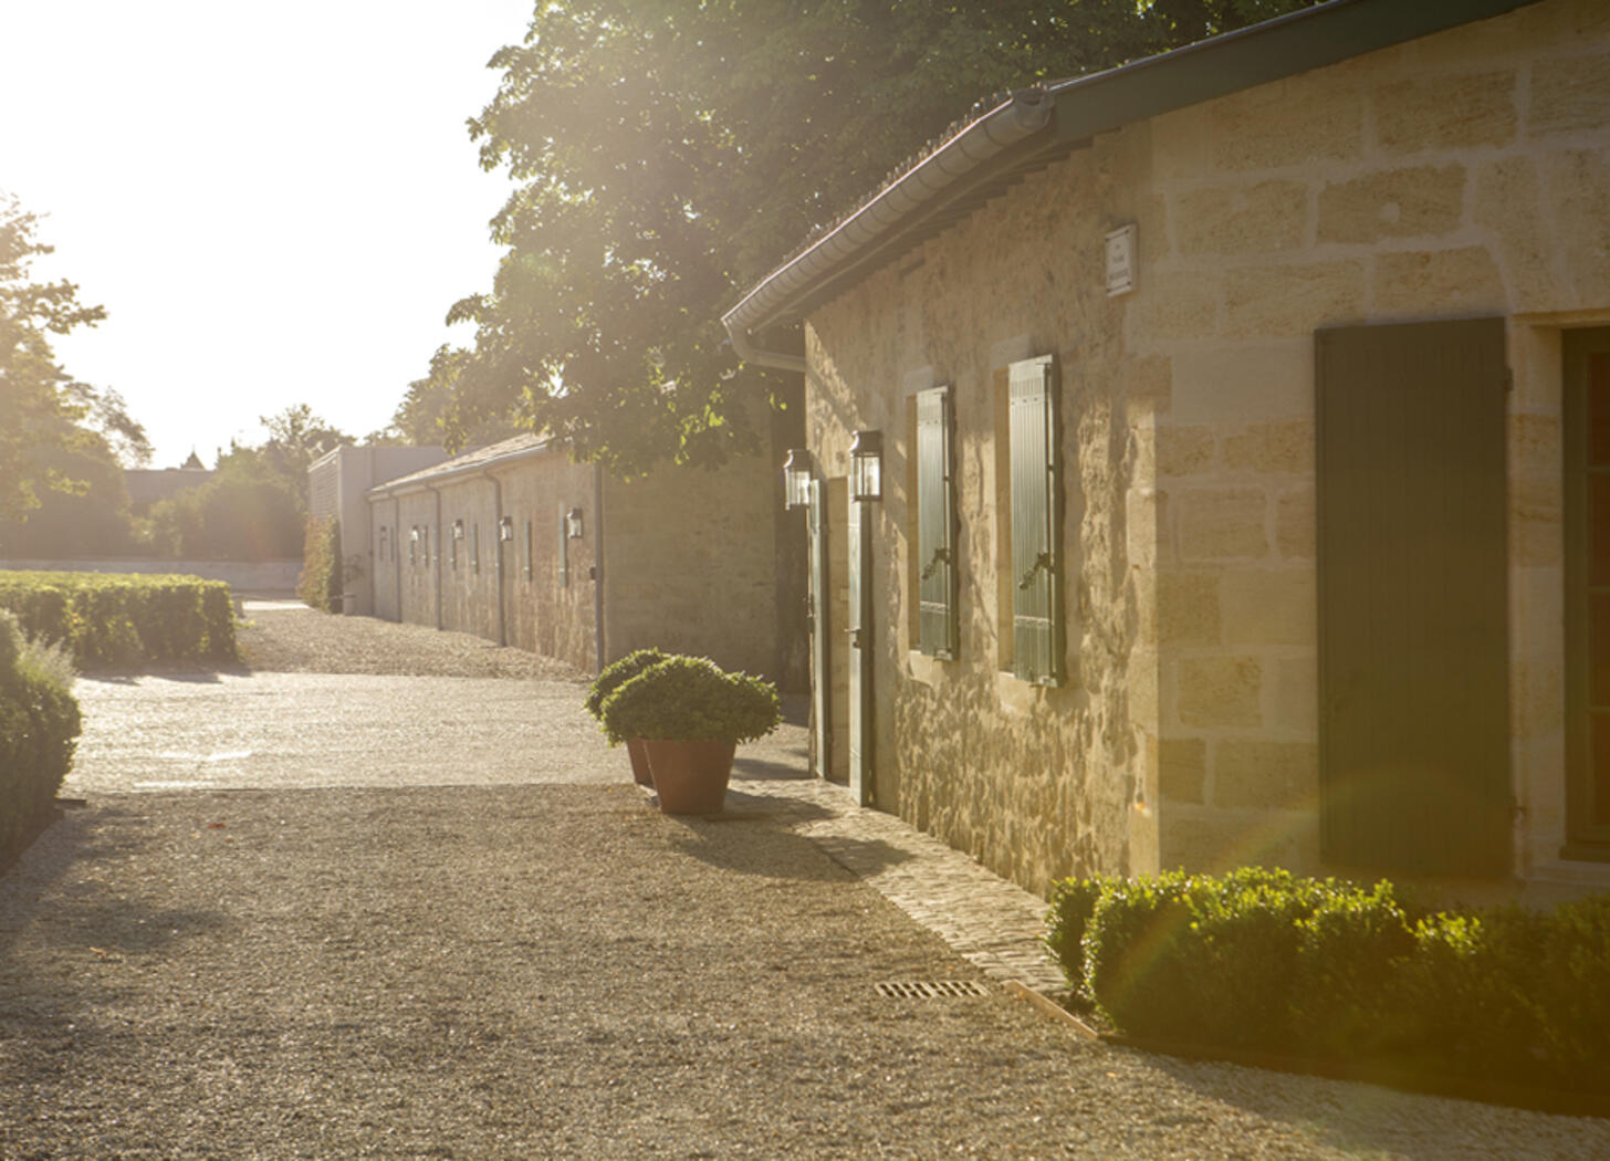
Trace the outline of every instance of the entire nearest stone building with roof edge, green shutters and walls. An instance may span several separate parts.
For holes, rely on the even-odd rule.
[[[1037,890],[1610,886],[1599,0],[1013,93],[726,324],[807,372],[823,773]]]

